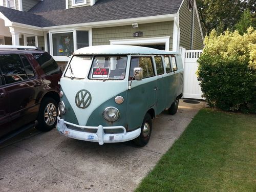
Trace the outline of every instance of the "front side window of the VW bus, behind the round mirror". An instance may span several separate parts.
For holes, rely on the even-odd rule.
[[[133,69],[135,67],[141,67],[143,69],[143,79],[154,76],[152,57],[132,57],[129,79],[133,78]]]

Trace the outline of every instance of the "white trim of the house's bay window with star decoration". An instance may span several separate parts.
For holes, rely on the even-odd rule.
[[[52,34],[56,33],[70,33],[73,32],[73,42],[74,42],[74,51],[77,50],[77,39],[76,39],[76,31],[88,31],[89,35],[89,46],[92,46],[92,29],[71,29],[71,30],[65,30],[65,31],[49,31],[49,43],[50,43],[50,55],[56,60],[56,61],[68,61],[69,57],[67,56],[54,56],[53,55],[53,44],[52,44]],[[47,48],[47,33],[45,34],[45,45]],[[49,50],[47,50],[49,52]]]

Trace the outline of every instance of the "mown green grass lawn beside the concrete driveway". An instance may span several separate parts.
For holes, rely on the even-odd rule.
[[[136,191],[256,191],[256,115],[201,110]]]

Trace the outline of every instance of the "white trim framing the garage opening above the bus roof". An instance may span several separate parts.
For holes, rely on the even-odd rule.
[[[153,44],[156,44],[156,43],[165,44],[165,51],[169,51],[170,36],[110,40],[110,45],[153,45]]]

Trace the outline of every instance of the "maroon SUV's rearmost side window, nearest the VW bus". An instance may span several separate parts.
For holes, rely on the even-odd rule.
[[[57,62],[48,53],[33,53],[33,56],[46,75],[61,73]]]

